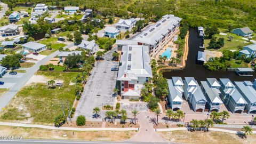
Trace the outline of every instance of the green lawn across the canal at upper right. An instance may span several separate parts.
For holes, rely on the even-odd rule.
[[[226,33],[227,35],[223,36],[223,35],[217,34],[215,35],[215,37],[217,37],[217,40],[220,37],[223,37],[225,39],[225,45],[221,47],[219,50],[207,49],[207,46],[209,46],[208,44],[210,43],[210,39],[205,39],[204,44],[205,44],[206,50],[209,50],[209,51],[238,50],[238,47],[243,47],[245,45],[250,44],[249,42],[244,43],[245,40],[242,39],[243,38],[242,36],[237,36],[235,34],[227,32],[227,29],[219,29],[219,30],[221,33]],[[228,41],[228,36],[233,36],[233,40],[231,42]]]

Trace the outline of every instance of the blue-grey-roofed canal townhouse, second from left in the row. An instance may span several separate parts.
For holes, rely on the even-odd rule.
[[[204,111],[207,100],[194,77],[185,77],[184,90],[185,98],[191,104],[193,110]]]

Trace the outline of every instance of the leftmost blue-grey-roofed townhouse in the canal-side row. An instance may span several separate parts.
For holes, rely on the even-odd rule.
[[[172,79],[167,79],[168,87],[169,87],[169,94],[168,94],[168,100],[170,103],[170,107],[172,110],[178,110],[181,109],[182,104],[182,95],[184,90],[183,82],[181,77],[172,77]]]

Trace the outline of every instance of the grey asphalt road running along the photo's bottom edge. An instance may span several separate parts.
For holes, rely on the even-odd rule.
[[[170,142],[115,142],[115,141],[70,141],[70,140],[0,140],[0,143],[3,144],[30,144],[30,143],[38,143],[38,144],[43,144],[43,143],[50,143],[50,144],[55,144],[55,143],[65,143],[65,144],[71,144],[71,143],[90,143],[90,144],[165,144]]]

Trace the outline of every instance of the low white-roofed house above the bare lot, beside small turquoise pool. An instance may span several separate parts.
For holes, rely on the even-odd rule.
[[[35,53],[39,53],[46,50],[45,44],[36,43],[36,42],[28,42],[28,43],[22,44],[21,46],[23,46],[23,49],[31,52],[35,52]]]

